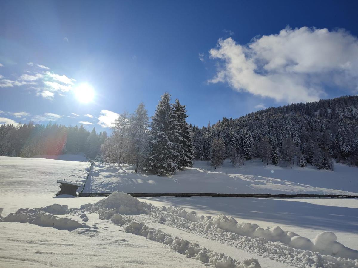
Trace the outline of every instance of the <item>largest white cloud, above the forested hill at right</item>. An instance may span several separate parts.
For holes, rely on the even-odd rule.
[[[222,62],[209,83],[276,101],[314,101],[324,87],[358,90],[358,39],[344,30],[286,28],[250,44],[219,40],[211,58]]]

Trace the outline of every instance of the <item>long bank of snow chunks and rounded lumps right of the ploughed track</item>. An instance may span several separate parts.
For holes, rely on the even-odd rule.
[[[257,224],[237,223],[234,218],[225,215],[198,215],[195,211],[187,212],[184,208],[173,206],[145,204],[145,207],[149,215],[174,228],[287,262],[323,267],[358,267],[358,251],[338,243],[331,232],[320,233],[312,242],[280,227],[263,229]]]

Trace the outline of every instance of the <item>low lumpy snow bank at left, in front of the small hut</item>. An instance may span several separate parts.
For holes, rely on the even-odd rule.
[[[91,228],[88,225],[81,224],[77,220],[67,217],[58,217],[51,213],[37,209],[19,209],[16,213],[10,213],[4,219],[4,222],[20,222],[37,224],[39,226],[54,227],[62,230],[74,230],[77,228]]]

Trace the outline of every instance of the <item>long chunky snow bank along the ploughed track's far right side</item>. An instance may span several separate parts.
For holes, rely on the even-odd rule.
[[[350,267],[352,260],[358,259],[358,251],[337,242],[337,237],[332,232],[320,233],[314,241],[311,241],[296,233],[284,231],[279,226],[264,229],[253,223],[238,223],[233,217],[225,215],[211,217],[198,215],[195,211],[187,212],[184,208],[173,206],[155,207],[146,203],[144,205],[148,214],[159,219],[160,222],[179,229],[189,229],[207,236],[232,241],[244,247],[247,244],[246,240],[252,240],[252,243],[257,243],[256,247],[259,248],[258,244],[262,244],[263,251],[275,254],[281,252],[282,248],[290,251],[300,250],[305,254],[318,252],[322,254],[321,257],[328,255],[326,256],[328,259],[323,257],[323,262],[341,262],[342,264],[342,258],[348,259],[346,267]],[[358,260],[355,263],[358,265]]]

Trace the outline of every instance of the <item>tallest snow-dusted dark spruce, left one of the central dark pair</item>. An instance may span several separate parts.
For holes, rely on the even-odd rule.
[[[173,174],[178,169],[180,154],[176,133],[176,118],[170,104],[170,94],[164,93],[150,124],[147,170],[157,175]]]

